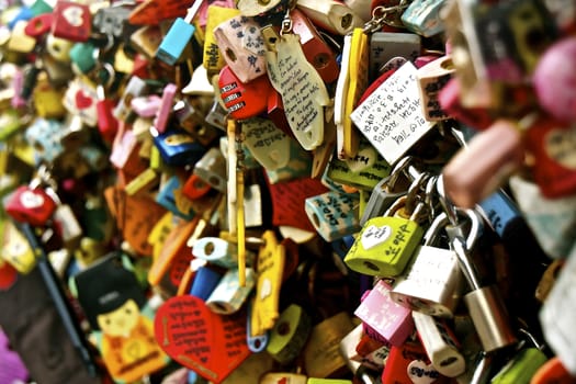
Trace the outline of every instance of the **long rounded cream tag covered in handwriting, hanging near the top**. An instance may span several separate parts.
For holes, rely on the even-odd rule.
[[[268,42],[266,57],[270,82],[282,94],[294,136],[304,149],[312,150],[324,140],[324,106],[330,101],[326,86],[306,60],[297,35],[278,37],[271,29],[262,33]],[[271,45],[270,39],[275,43]]]

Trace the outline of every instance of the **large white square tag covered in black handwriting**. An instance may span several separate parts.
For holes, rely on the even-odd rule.
[[[420,103],[417,69],[407,61],[350,118],[382,157],[395,163],[434,124],[426,121]]]

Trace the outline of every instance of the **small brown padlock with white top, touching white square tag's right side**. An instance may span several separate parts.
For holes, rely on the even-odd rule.
[[[450,118],[442,110],[439,95],[452,78],[454,68],[452,58],[443,56],[418,69],[418,86],[426,120],[441,121]]]

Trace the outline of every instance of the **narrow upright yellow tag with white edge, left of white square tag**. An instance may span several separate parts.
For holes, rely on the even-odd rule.
[[[350,37],[345,37],[342,69],[336,83],[334,104],[336,150],[340,159],[358,154],[360,138],[349,116],[368,87],[368,35],[362,29],[354,29]]]

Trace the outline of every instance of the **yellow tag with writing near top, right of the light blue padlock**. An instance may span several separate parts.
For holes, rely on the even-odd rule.
[[[216,42],[216,37],[214,36],[214,29],[226,20],[230,20],[239,14],[240,11],[236,8],[219,7],[216,4],[210,4],[207,8],[202,65],[206,69],[208,78],[217,75],[226,64]]]

